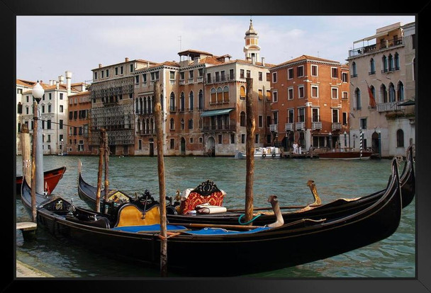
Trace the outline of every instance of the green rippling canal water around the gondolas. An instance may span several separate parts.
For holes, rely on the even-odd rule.
[[[44,169],[66,166],[54,194],[86,207],[77,193],[78,161],[88,183],[97,183],[98,156],[44,156]],[[254,161],[254,207],[268,207],[269,195],[277,195],[281,206],[306,205],[313,196],[306,185],[314,180],[323,203],[340,197],[353,198],[386,188],[391,160],[332,161],[319,159],[259,159]],[[400,172],[403,168],[401,163]],[[16,172],[22,173],[21,156],[16,157]],[[194,188],[208,179],[227,193],[223,205],[243,208],[245,202],[245,160],[225,157],[165,157],[166,194]],[[157,157],[118,157],[109,161],[111,189],[134,195],[145,189],[158,197]],[[16,200],[16,221],[29,221],[21,200]],[[128,248],[128,249],[139,249]],[[319,243],[315,243],[319,249]],[[266,253],[257,251],[256,253]],[[269,257],[276,257],[269,253]],[[65,245],[47,231],[38,229],[36,241],[25,242],[16,233],[16,259],[55,277],[159,277],[159,270],[142,263],[126,263],[105,255],[90,253],[79,246]],[[256,264],[259,265],[258,263]],[[168,255],[169,271],[169,255]],[[238,272],[239,275],[242,275]],[[169,277],[183,277],[169,272]],[[332,258],[293,268],[242,275],[244,277],[415,277],[415,201],[403,209],[395,234]]]

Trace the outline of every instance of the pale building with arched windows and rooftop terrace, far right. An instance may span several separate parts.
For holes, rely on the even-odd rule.
[[[364,146],[381,156],[403,155],[415,143],[414,32],[414,23],[394,23],[349,50],[350,132],[362,132]]]

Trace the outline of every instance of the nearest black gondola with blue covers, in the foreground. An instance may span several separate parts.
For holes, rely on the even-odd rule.
[[[38,224],[55,236],[77,241],[99,253],[159,266],[157,226],[152,231],[152,226],[116,227],[101,213],[88,209],[76,212],[62,197],[36,197]],[[25,182],[21,199],[30,211],[31,190]],[[338,202],[321,208],[337,206]],[[123,203],[121,207],[125,205],[131,204]],[[177,233],[167,239],[168,268],[187,275],[225,276],[309,263],[386,239],[398,228],[401,209],[398,166],[393,159],[384,193],[371,204],[351,212],[328,213],[319,219],[303,217],[281,226],[261,226],[251,231],[234,231],[228,226],[201,230],[174,226]]]

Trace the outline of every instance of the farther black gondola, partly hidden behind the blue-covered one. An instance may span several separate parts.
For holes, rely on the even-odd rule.
[[[79,168],[80,170],[80,168]],[[405,164],[403,167],[403,173],[400,177],[401,182],[401,194],[402,194],[402,205],[403,208],[410,204],[415,196],[415,172],[413,168],[413,149],[409,146]],[[369,205],[372,205],[376,200],[379,199],[384,194],[385,190],[379,190],[376,193],[359,197],[354,200],[339,199],[335,202],[331,202],[328,205],[323,206],[313,206],[310,205],[304,209],[298,209],[294,212],[283,212],[283,218],[285,222],[294,221],[296,219],[302,219],[303,217],[308,217],[310,219],[320,219],[321,217],[328,217],[329,214],[334,216],[342,216],[347,213],[355,212],[359,209],[363,209]],[[102,190],[102,195],[103,190]],[[82,174],[79,171],[78,176],[78,194],[79,197],[84,200],[91,209],[96,207],[96,188],[89,185],[82,178]],[[121,195],[121,197],[128,201],[133,201],[133,197],[121,193],[121,191],[112,191],[113,195]],[[102,198],[102,196],[101,196]],[[103,202],[103,201],[101,201]],[[150,201],[149,206],[154,201]],[[114,205],[113,202],[109,202],[109,205]],[[113,213],[115,217],[115,213]],[[244,215],[244,212],[223,212],[218,214],[179,214],[176,212],[174,207],[167,207],[167,219],[169,222],[175,223],[206,223],[206,224],[240,224],[240,219]],[[274,214],[258,214],[254,218],[254,225],[264,225],[274,222]]]

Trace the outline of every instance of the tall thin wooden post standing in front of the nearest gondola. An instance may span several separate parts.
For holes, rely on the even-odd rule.
[[[164,134],[162,120],[162,101],[160,96],[160,83],[154,84],[155,95],[155,128],[157,139],[157,170],[159,171],[159,202],[160,202],[160,276],[167,277],[167,219],[166,219],[166,193],[164,185]]]

